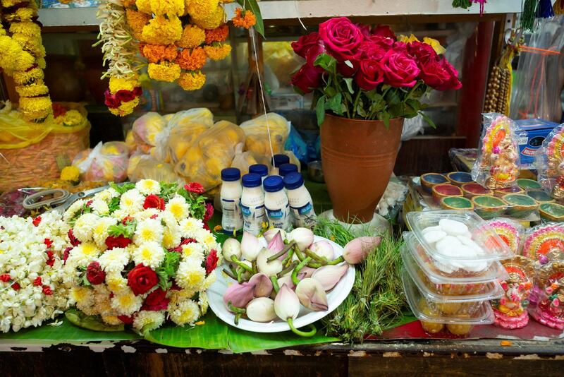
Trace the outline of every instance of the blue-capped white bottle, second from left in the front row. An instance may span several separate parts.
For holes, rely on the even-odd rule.
[[[243,176],[243,195],[241,196],[241,212],[243,213],[243,230],[258,236],[262,223],[266,221],[264,214],[264,191],[259,174]]]

